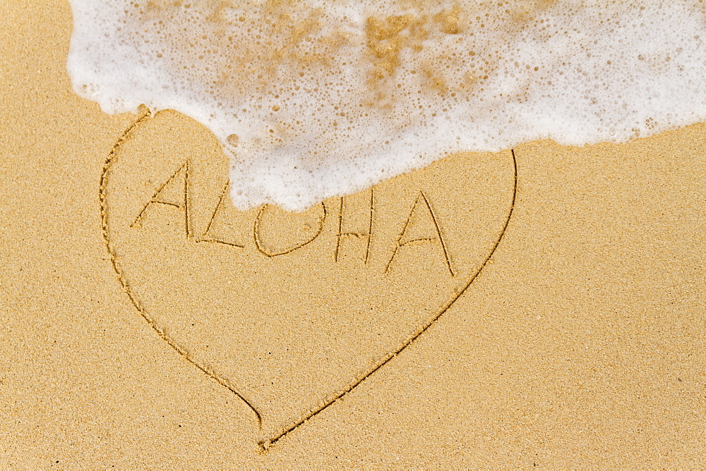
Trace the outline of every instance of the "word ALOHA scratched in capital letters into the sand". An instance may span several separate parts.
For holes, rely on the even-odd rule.
[[[227,205],[230,204],[230,201],[227,195],[229,195],[229,183],[224,185],[217,204],[210,210],[210,218],[208,219],[205,230],[197,236],[191,221],[192,213],[196,208],[193,202],[191,202],[189,161],[187,160],[157,188],[150,200],[144,204],[143,208],[137,214],[131,227],[138,228],[142,226],[143,221],[145,221],[152,212],[156,211],[158,207],[170,207],[173,210],[174,217],[178,218],[178,224],[183,226],[183,233],[187,239],[193,240],[196,243],[215,243],[235,249],[245,249],[246,244],[244,240],[237,238],[237,236],[227,236],[222,233],[222,231],[215,230],[216,226],[223,223],[228,224],[226,213],[228,210]],[[363,228],[357,230],[347,228],[347,219],[352,216],[346,209],[347,199],[348,197],[338,198],[337,208],[335,208],[337,209],[337,231],[335,231],[333,259],[335,262],[341,261],[342,243],[344,240],[356,239],[360,240],[363,245],[361,259],[364,264],[367,265],[370,261],[374,234],[373,229],[375,227],[374,221],[376,219],[375,189],[373,187],[369,190],[369,197],[366,202],[367,208],[365,210],[366,224]],[[294,216],[295,219],[299,220],[297,221],[297,226],[299,226],[299,229],[304,229],[305,235],[292,243],[277,246],[277,243],[273,240],[277,238],[275,234],[281,236],[282,233],[288,230],[290,232],[296,230],[291,226],[287,228],[289,224],[277,224],[277,212],[281,213],[282,210],[270,204],[264,204],[258,210],[250,225],[251,238],[256,249],[261,255],[268,258],[289,255],[313,243],[313,241],[317,240],[324,232],[325,220],[330,216],[330,208],[327,207],[326,202],[321,202],[309,212],[289,214],[290,219]],[[313,224],[312,212],[317,213],[316,216],[313,217]],[[273,221],[275,221],[275,224],[272,224]],[[420,231],[419,228],[415,228],[414,226],[424,226],[424,230]],[[434,252],[437,257],[443,257],[448,274],[452,277],[456,276],[456,270],[451,262],[448,244],[443,236],[440,221],[432,209],[428,195],[426,195],[424,190],[419,190],[417,197],[411,202],[411,209],[402,224],[402,230],[395,238],[393,249],[387,255],[384,273],[387,274],[390,271],[395,261],[402,255],[402,250],[405,247],[423,243],[436,245],[435,250],[429,251],[429,256],[432,256],[431,252]]]

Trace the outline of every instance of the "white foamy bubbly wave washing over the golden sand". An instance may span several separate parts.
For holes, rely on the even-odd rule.
[[[73,87],[175,109],[231,197],[310,207],[462,151],[623,142],[706,118],[696,0],[71,0]]]

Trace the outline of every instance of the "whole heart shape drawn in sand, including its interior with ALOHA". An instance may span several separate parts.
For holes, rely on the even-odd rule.
[[[472,286],[510,221],[517,171],[511,151],[459,154],[297,214],[239,212],[227,181],[208,130],[143,114],[104,164],[102,229],[136,310],[249,405],[264,450]]]

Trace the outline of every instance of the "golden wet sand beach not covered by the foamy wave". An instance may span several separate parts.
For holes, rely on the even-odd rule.
[[[239,213],[198,123],[73,94],[68,4],[0,9],[3,467],[706,465],[706,126]]]

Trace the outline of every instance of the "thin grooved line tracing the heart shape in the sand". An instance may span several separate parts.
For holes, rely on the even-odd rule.
[[[108,219],[108,212],[107,212],[107,182],[108,182],[108,176],[109,176],[109,171],[112,167],[112,164],[114,164],[114,161],[116,161],[118,152],[120,147],[126,142],[126,140],[131,137],[131,133],[133,130],[140,125],[143,121],[146,121],[148,118],[152,117],[152,113],[149,109],[147,109],[145,106],[141,107],[140,112],[138,114],[138,117],[136,120],[131,123],[130,126],[124,130],[124,132],[121,134],[119,139],[116,141],[116,143],[113,145],[113,147],[110,149],[110,152],[108,153],[106,159],[104,160],[103,166],[102,166],[102,171],[100,175],[100,181],[99,181],[99,200],[100,200],[100,215],[101,215],[101,231],[102,231],[102,239],[103,243],[107,249],[109,259],[113,268],[113,271],[115,272],[117,279],[121,285],[121,288],[123,289],[124,293],[128,296],[128,299],[131,301],[131,304],[135,309],[138,311],[140,316],[145,319],[145,322],[148,323],[148,325],[155,331],[157,336],[159,336],[162,341],[167,343],[169,347],[173,348],[179,356],[181,356],[184,360],[187,362],[191,363],[191,365],[195,366],[199,371],[203,372],[204,374],[208,375],[212,379],[214,379],[218,384],[221,386],[224,386],[226,389],[234,393],[235,396],[237,396],[239,399],[241,399],[255,414],[257,422],[258,422],[258,428],[262,429],[262,424],[263,424],[263,418],[258,412],[258,410],[253,406],[253,404],[245,398],[242,393],[240,393],[230,382],[225,379],[224,377],[221,377],[219,374],[213,371],[213,369],[210,369],[210,367],[207,367],[205,365],[202,365],[200,362],[195,360],[191,355],[189,354],[189,351],[184,348],[183,346],[179,345],[174,339],[172,339],[165,331],[162,329],[157,322],[155,322],[154,319],[150,316],[150,314],[145,310],[145,308],[142,306],[140,301],[137,299],[136,295],[132,292],[130,285],[127,281],[126,275],[124,274],[124,271],[122,271],[120,264],[118,262],[117,256],[115,251],[112,248],[112,243],[110,241],[110,236],[109,236],[109,219]],[[308,422],[312,417],[315,415],[318,415],[318,413],[323,412],[326,408],[328,408],[330,405],[333,405],[337,400],[340,400],[344,396],[347,396],[348,393],[353,391],[357,386],[359,386],[363,381],[371,377],[375,372],[378,371],[378,369],[381,369],[384,365],[386,365],[390,360],[392,360],[394,357],[402,353],[402,351],[405,350],[409,345],[411,345],[417,338],[419,338],[424,332],[426,332],[433,324],[435,324],[438,319],[440,319],[445,312],[447,312],[451,306],[468,290],[468,288],[472,285],[472,283],[478,278],[479,274],[481,274],[481,271],[483,271],[484,267],[490,262],[490,259],[493,257],[495,254],[496,250],[498,249],[498,246],[500,245],[501,241],[503,240],[505,236],[505,232],[507,231],[507,228],[510,224],[510,220],[512,219],[513,212],[515,209],[515,201],[517,199],[517,158],[515,157],[515,149],[510,149],[510,154],[513,159],[513,194],[512,198],[510,200],[510,207],[508,209],[508,214],[505,216],[505,222],[503,223],[503,227],[501,228],[500,233],[498,234],[498,237],[496,238],[496,241],[493,245],[493,248],[489,252],[489,254],[486,256],[484,259],[483,263],[480,265],[480,267],[474,272],[469,277],[469,280],[467,283],[465,283],[462,288],[457,289],[455,294],[450,298],[448,302],[446,302],[436,314],[433,315],[430,319],[426,321],[426,323],[421,326],[417,331],[414,332],[407,340],[403,343],[400,344],[395,350],[385,354],[382,360],[378,360],[373,367],[371,367],[365,374],[363,374],[360,379],[357,379],[354,381],[352,384],[347,386],[345,389],[342,391],[339,391],[338,393],[334,393],[330,398],[327,400],[324,400],[318,405],[317,408],[313,410],[309,410],[309,413],[304,415],[303,418],[298,420],[296,423],[290,425],[289,427],[282,429],[280,432],[277,434],[274,434],[273,436],[270,436],[269,439],[263,439],[260,441],[257,441],[257,445],[262,453],[268,451],[268,449],[273,446],[274,444],[277,443],[277,441],[280,441],[280,439],[284,438],[287,436],[287,434],[294,432],[297,428],[299,428],[302,424]],[[324,206],[324,211],[325,211],[325,206]],[[261,209],[262,212],[262,209]]]

